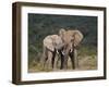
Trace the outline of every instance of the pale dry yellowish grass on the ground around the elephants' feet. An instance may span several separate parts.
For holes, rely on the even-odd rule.
[[[34,62],[29,69],[28,73],[36,73],[36,72],[51,72],[51,71],[61,71],[59,69],[59,64],[57,69],[43,69],[43,65],[40,63]],[[71,61],[69,60],[68,62],[68,71],[72,70]],[[78,57],[78,67],[75,71],[85,71],[85,70],[97,70],[97,57],[96,55],[90,55],[90,57]],[[65,70],[64,70],[65,71]],[[74,71],[74,70],[72,70]]]

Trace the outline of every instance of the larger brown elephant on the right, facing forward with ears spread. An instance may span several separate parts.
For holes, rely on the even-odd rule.
[[[83,39],[83,34],[75,29],[75,30],[65,30],[60,29],[59,35],[64,44],[62,49],[63,58],[61,60],[61,69],[68,69],[68,59],[71,58],[72,69],[77,67],[77,57],[76,57],[76,47]]]

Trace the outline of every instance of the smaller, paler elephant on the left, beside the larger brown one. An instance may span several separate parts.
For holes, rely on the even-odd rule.
[[[62,57],[62,48],[63,41],[59,35],[49,35],[44,39],[44,54],[43,54],[43,62],[44,69],[45,65],[48,65],[47,69],[53,69],[56,65],[55,58],[56,53],[59,52]]]

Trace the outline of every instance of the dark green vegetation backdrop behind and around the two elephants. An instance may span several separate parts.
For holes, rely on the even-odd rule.
[[[50,15],[50,14],[28,13],[28,71],[29,70],[32,72],[44,71],[41,70],[43,66],[40,64],[43,55],[43,39],[48,35],[58,34],[60,28],[66,28],[66,29],[77,28],[83,33],[84,39],[81,46],[77,48],[80,62],[85,58],[89,58],[92,64],[90,67],[88,69],[92,67],[96,69],[96,61],[97,61],[96,16],[75,16],[75,15],[72,16],[72,15]]]

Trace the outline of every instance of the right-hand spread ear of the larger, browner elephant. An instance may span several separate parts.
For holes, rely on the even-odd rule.
[[[74,47],[76,47],[82,41],[83,34],[80,30],[74,30],[73,37],[74,37]]]

